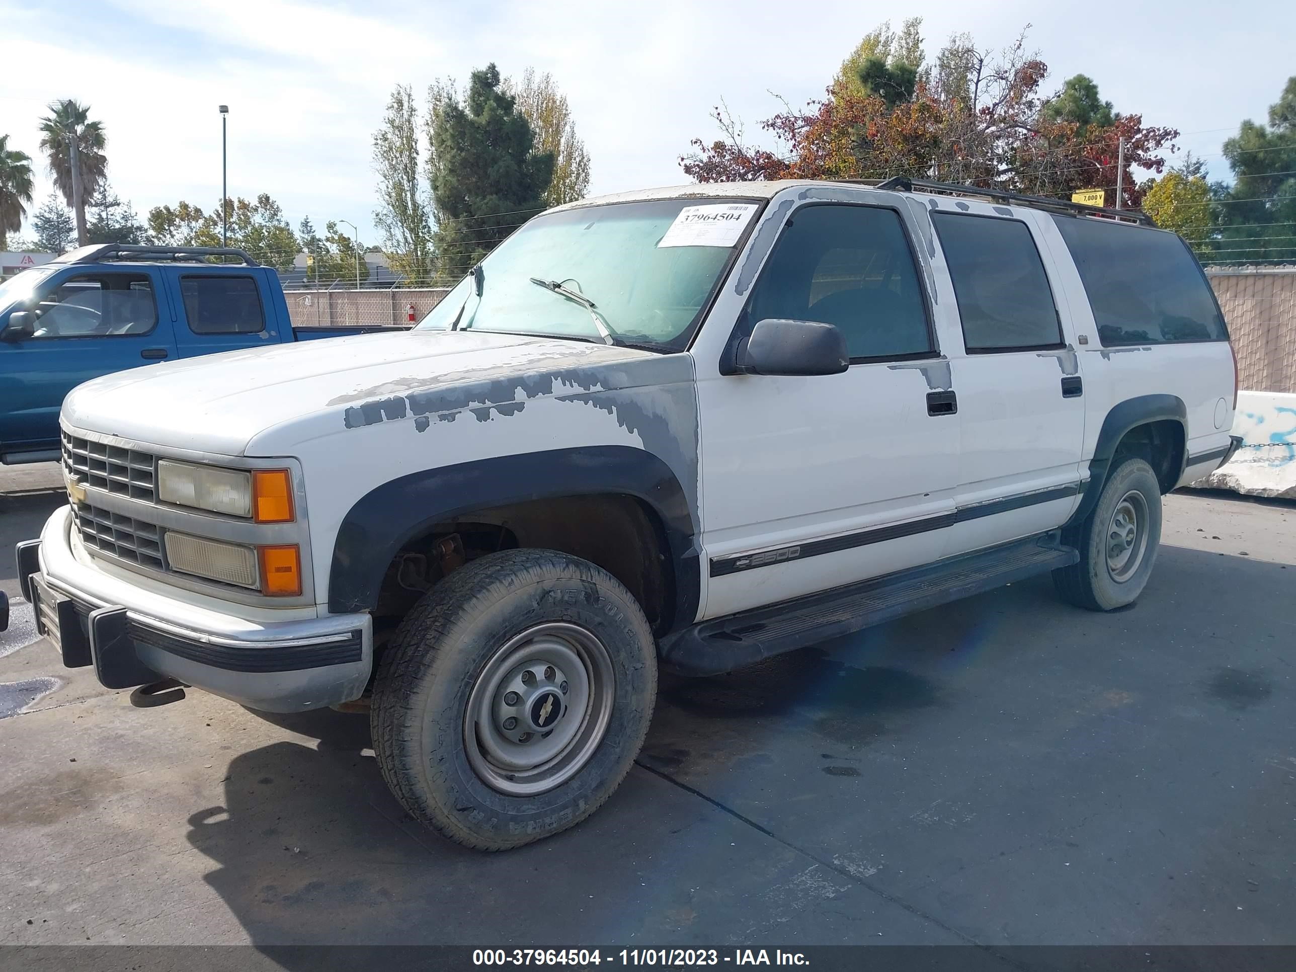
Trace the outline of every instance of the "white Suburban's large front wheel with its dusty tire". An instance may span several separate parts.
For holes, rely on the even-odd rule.
[[[656,643],[609,573],[542,550],[474,560],[406,616],[371,726],[402,806],[505,850],[566,829],[630,770],[657,693]]]

